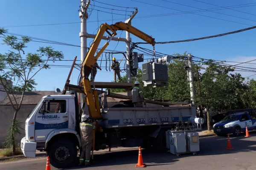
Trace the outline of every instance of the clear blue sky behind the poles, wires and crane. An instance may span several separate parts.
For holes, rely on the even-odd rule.
[[[136,17],[152,16],[145,18],[134,18],[132,25],[146,34],[151,35],[157,42],[161,41],[175,41],[175,40],[186,40],[191,38],[205,37],[215,34],[221,34],[229,31],[235,31],[242,28],[247,28],[256,25],[255,9],[256,1],[254,0],[201,0],[206,3],[211,3],[217,6],[212,6],[205,3],[196,2],[194,0],[97,0],[102,3],[108,3],[116,6],[124,7],[137,7],[138,14]],[[169,1],[169,2],[166,2]],[[150,3],[148,5],[144,3]],[[173,2],[173,3],[170,3]],[[119,10],[125,10],[126,8],[119,8],[114,6],[108,6],[102,3],[92,1],[91,4],[94,10],[92,11],[90,18],[87,20],[87,32],[90,34],[96,34],[98,25],[102,23],[112,24],[112,14],[104,13],[102,11],[110,12],[109,9],[113,8]],[[175,3],[180,3],[178,5]],[[218,10],[214,13],[210,11],[204,11],[200,13],[186,13],[177,14],[180,11],[191,12],[199,9],[218,8],[218,6],[236,6],[242,4],[249,4],[243,8],[233,8],[239,11],[233,11],[230,9]],[[58,42],[65,42],[73,45],[80,45],[80,18],[79,18],[79,0],[26,0],[26,1],[10,1],[0,0],[0,27],[4,26],[11,33],[22,34],[31,37],[37,37],[47,40],[53,40]],[[100,7],[96,7],[100,6]],[[160,7],[162,6],[162,7]],[[189,7],[192,6],[192,7]],[[172,9],[170,9],[172,8]],[[174,10],[176,9],[176,10]],[[97,11],[100,10],[100,11]],[[125,16],[116,14],[131,14],[128,12],[134,9],[127,9],[125,11],[113,10],[113,23],[124,21]],[[245,12],[245,13],[244,13]],[[171,14],[176,13],[176,14]],[[247,14],[249,13],[249,14]],[[159,14],[169,14],[166,16],[156,17]],[[200,15],[208,16],[200,16]],[[227,16],[232,15],[235,17]],[[214,17],[214,18],[212,18]],[[238,18],[240,17],[240,18]],[[126,19],[128,16],[126,16]],[[218,18],[218,19],[215,19]],[[244,19],[241,19],[244,18]],[[99,22],[97,22],[99,20]],[[108,20],[108,21],[104,21]],[[229,22],[229,21],[233,22]],[[78,22],[78,23],[76,23]],[[27,25],[41,25],[41,24],[56,24],[56,23],[74,23],[74,24],[60,24],[60,25],[49,25],[49,26],[27,26]],[[23,26],[23,27],[11,27],[11,26]],[[211,38],[207,40],[199,40],[193,42],[180,42],[174,44],[156,45],[156,51],[165,54],[182,54],[184,51],[192,53],[196,57],[206,59],[217,59],[227,60],[236,62],[246,62],[252,59],[256,59],[255,55],[255,35],[256,30],[244,31],[238,34],[227,35],[224,37]],[[120,34],[118,34],[120,36]],[[125,37],[125,31],[122,32],[121,37]],[[133,42],[142,42],[137,37],[131,36]],[[93,39],[87,40],[87,45]],[[2,40],[1,40],[2,41]],[[102,43],[99,47],[105,43]],[[63,51],[64,59],[73,60],[75,56],[80,60],[80,48],[65,45],[46,44],[41,42],[30,42],[26,52],[35,52],[40,46],[51,45],[55,50]],[[113,50],[117,45],[117,42],[112,41],[107,49]],[[140,45],[145,48],[152,49],[151,45]],[[0,46],[0,53],[4,53],[8,48],[4,45]],[[125,51],[125,42],[119,42],[116,47],[117,51]],[[119,54],[114,55],[117,59],[121,59],[122,56]],[[144,58],[149,58],[145,56]],[[80,63],[79,61],[77,63]],[[99,62],[98,62],[99,63]],[[124,63],[124,61],[122,61]],[[256,63],[256,62],[255,62]],[[51,65],[72,65],[72,61],[61,61],[61,62],[49,62]],[[234,63],[228,63],[234,64]],[[102,62],[105,66],[105,62]],[[108,63],[109,65],[109,63]],[[123,65],[123,64],[121,64]],[[244,67],[255,67],[254,64],[243,64],[240,66]],[[53,87],[60,88],[64,87],[64,83],[70,72],[70,68],[51,68],[49,70],[40,71],[36,76],[35,80],[38,83],[36,90],[40,91],[52,91]],[[239,72],[244,77],[253,75],[253,72]],[[77,85],[77,79],[79,71],[74,69],[73,75],[70,78],[70,83]],[[256,78],[251,76],[250,78]],[[106,71],[102,68],[102,71],[98,70],[95,81],[110,82],[113,80],[113,72]]]

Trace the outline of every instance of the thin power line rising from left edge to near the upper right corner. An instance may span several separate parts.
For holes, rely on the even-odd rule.
[[[236,7],[233,7],[233,6],[226,6],[226,7],[222,7],[222,8],[224,8],[224,9],[231,9],[231,8],[227,8],[227,7],[233,7],[233,8],[248,7],[248,6],[244,6],[244,5],[256,6],[256,5],[250,5],[250,4],[255,4],[255,3],[248,3],[248,4],[236,5]],[[206,11],[206,10],[218,11],[218,10],[224,10],[224,9],[208,8],[208,9],[204,9],[204,10],[194,10],[194,11],[190,11],[190,12],[175,12],[175,13],[158,14],[158,15],[146,15],[146,16],[142,16],[142,17],[134,17],[134,19],[143,19],[143,18],[148,18],[148,17],[165,17],[165,16],[169,16],[169,15],[180,15],[180,14],[197,13],[197,12],[204,12],[204,11]],[[114,20],[122,20],[122,18],[114,19]],[[105,22],[105,21],[112,21],[112,20],[99,20],[99,21],[95,20],[95,21],[87,21],[87,23]],[[73,22],[73,23],[55,23],[55,24],[38,24],[38,25],[21,25],[21,26],[1,26],[1,27],[5,27],[5,28],[10,27],[10,28],[12,28],[12,27],[29,27],[29,26],[53,26],[53,25],[65,25],[65,24],[77,24],[77,23],[81,23],[81,22]]]

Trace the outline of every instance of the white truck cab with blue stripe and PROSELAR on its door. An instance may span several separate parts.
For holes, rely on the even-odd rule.
[[[76,120],[78,106],[75,102],[76,96],[71,94],[44,96],[38,102],[26,119],[26,136],[21,140],[24,156],[35,158],[36,150],[46,150],[48,155],[54,155],[50,156],[50,159],[57,159],[52,162],[67,162],[65,159],[73,161],[76,158],[81,140],[79,121]],[[66,146],[59,144],[63,142],[66,142]]]

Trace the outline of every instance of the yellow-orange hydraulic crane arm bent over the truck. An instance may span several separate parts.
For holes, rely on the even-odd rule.
[[[93,68],[93,65],[96,63],[97,59],[101,56],[103,51],[107,48],[112,38],[116,36],[117,30],[128,31],[136,37],[139,37],[140,39],[150,43],[151,45],[155,45],[154,38],[127,23],[119,22],[112,25],[108,25],[107,23],[105,23],[100,26],[99,31],[96,34],[96,37],[94,38],[93,43],[90,46],[87,56],[82,64],[82,82],[84,85],[84,92],[87,96],[86,100],[89,109],[89,114],[92,119],[100,119],[102,118],[102,116],[99,108],[98,94],[97,91],[92,90],[90,86],[89,76]],[[112,32],[112,34],[110,31]],[[108,40],[108,42],[106,42],[103,45],[100,51],[96,54],[97,48],[99,47],[99,43],[101,42],[105,32],[107,32],[111,36],[111,38],[110,40]],[[94,56],[95,54],[96,56]]]

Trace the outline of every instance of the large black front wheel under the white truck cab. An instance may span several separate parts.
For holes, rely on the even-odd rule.
[[[70,167],[76,162],[77,148],[70,140],[61,139],[52,143],[47,155],[52,166],[56,168]]]

